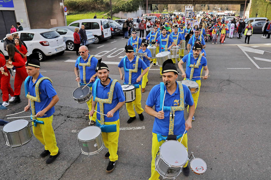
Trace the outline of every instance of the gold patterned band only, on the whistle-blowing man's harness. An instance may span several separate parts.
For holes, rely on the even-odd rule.
[[[180,105],[179,106],[171,106],[171,112],[170,112],[170,124],[169,124],[169,135],[173,135],[173,129],[174,129],[174,119],[175,119],[175,111],[183,111],[184,108],[184,94],[183,94],[183,87],[182,83],[180,81],[177,81],[180,91]],[[173,118],[172,118],[173,116]]]

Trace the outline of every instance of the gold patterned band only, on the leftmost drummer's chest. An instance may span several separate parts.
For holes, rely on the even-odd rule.
[[[36,97],[35,96],[31,96],[30,94],[26,95],[26,98],[28,98],[30,100],[30,105],[31,105],[31,112],[32,112],[32,118],[34,120],[36,120],[36,109],[35,109],[35,102],[39,102],[40,103],[40,97],[39,97],[39,84],[44,80],[44,79],[48,79],[51,83],[53,83],[53,81],[48,78],[48,77],[41,77],[39,78],[39,80],[37,81],[36,85],[35,85],[35,92],[36,92]]]

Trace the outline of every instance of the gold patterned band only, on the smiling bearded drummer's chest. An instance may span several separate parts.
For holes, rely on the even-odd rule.
[[[111,104],[112,103],[113,92],[114,92],[116,82],[119,82],[119,81],[117,79],[114,79],[112,81],[112,83],[111,83],[109,94],[108,94],[108,99],[101,99],[101,98],[95,97],[95,101],[100,104],[100,113],[104,114],[104,103],[106,103],[106,104]],[[101,125],[104,125],[104,115],[103,114],[100,114]]]

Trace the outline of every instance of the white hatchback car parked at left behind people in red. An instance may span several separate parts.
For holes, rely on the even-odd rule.
[[[30,55],[33,52],[39,52],[39,61],[44,61],[46,56],[49,55],[62,55],[66,49],[63,37],[52,29],[30,29],[14,32],[12,34],[15,33],[18,33],[20,39],[26,44],[28,51],[27,55]],[[5,56],[8,56],[8,52],[4,50],[5,40],[6,38],[2,39],[0,42],[0,51]]]

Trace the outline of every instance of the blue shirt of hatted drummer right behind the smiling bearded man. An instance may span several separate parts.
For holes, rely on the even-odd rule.
[[[127,56],[125,56],[124,58],[121,59],[118,67],[123,67],[123,59],[125,59],[125,64],[126,64],[126,68],[127,69],[135,69],[136,66],[136,56],[134,56],[133,60],[130,62],[129,59],[127,58]],[[141,85],[142,80],[140,80],[139,82],[136,82],[136,79],[140,76],[141,74],[141,69],[145,70],[147,67],[147,65],[145,64],[145,62],[143,62],[143,60],[141,58],[138,59],[138,69],[137,69],[137,73],[132,73],[132,80],[131,80],[131,84],[139,84]],[[128,84],[129,82],[129,72],[128,71],[124,71],[124,82],[126,84]]]

